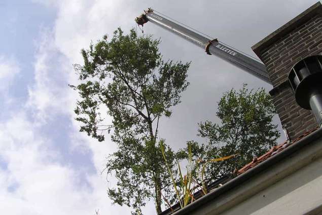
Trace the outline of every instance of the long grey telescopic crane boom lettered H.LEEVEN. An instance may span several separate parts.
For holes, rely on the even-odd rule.
[[[137,17],[136,19],[137,24],[143,25],[148,21],[155,23],[156,25],[169,30],[180,37],[192,42],[193,44],[205,49],[207,54],[216,55],[231,64],[241,68],[247,73],[250,73],[261,80],[271,84],[269,77],[267,75],[266,67],[263,63],[237,51],[236,49],[227,46],[224,43],[221,43],[217,39],[211,40],[209,38],[200,35],[197,32],[194,32],[180,24],[172,22],[161,15],[154,13],[152,9],[145,11],[145,14]]]

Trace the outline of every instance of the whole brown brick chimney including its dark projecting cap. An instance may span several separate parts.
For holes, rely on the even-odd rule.
[[[317,126],[311,111],[301,108],[288,81],[300,60],[322,54],[322,5],[318,2],[252,47],[266,65],[269,92],[282,126],[291,139]],[[322,80],[321,80],[322,85]]]

